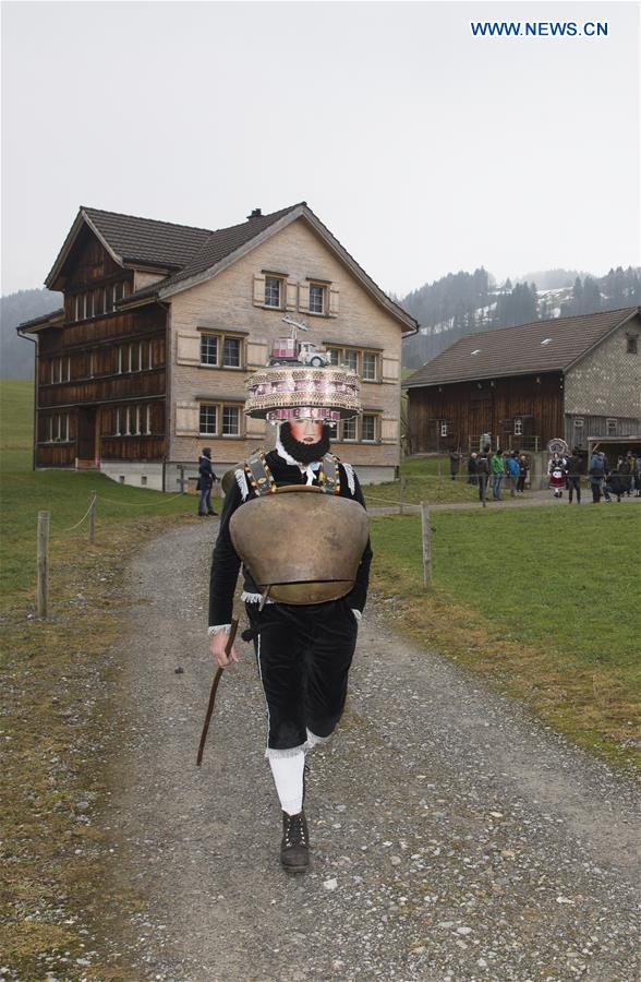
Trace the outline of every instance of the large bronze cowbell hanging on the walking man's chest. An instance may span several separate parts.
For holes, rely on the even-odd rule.
[[[229,523],[231,541],[262,594],[281,603],[338,600],[354,586],[368,536],[365,508],[292,484],[252,499]]]

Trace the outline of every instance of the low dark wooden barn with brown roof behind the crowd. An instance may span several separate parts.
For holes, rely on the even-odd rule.
[[[641,433],[637,307],[536,321],[456,342],[403,383],[411,453],[545,452]],[[636,440],[633,441],[636,445]]]

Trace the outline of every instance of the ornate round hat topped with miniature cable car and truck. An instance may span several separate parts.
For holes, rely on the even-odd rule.
[[[329,352],[299,342],[298,331],[309,326],[282,319],[290,337],[278,338],[269,363],[247,379],[245,415],[271,423],[297,419],[338,422],[361,414],[359,376],[351,369],[329,363]]]

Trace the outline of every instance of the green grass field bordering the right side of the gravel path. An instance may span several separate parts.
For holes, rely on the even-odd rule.
[[[641,511],[435,512],[372,522],[374,587],[403,630],[481,672],[583,746],[639,761]]]

